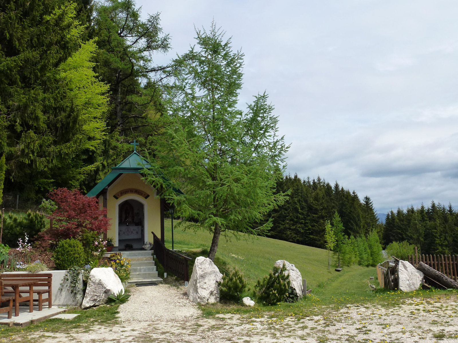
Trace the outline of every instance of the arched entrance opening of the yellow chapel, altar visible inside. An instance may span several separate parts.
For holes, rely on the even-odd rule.
[[[141,249],[145,243],[145,206],[135,199],[118,205],[118,249]]]

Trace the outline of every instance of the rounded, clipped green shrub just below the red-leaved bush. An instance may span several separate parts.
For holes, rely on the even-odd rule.
[[[56,268],[65,270],[73,266],[82,267],[86,261],[86,254],[80,241],[65,239],[57,244],[53,252]]]

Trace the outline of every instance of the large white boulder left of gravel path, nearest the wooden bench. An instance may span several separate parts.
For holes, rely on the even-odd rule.
[[[102,305],[110,295],[124,294],[124,287],[113,268],[93,268],[89,274],[82,308]]]

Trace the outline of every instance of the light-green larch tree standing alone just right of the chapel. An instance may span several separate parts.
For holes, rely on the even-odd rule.
[[[283,177],[289,146],[278,136],[278,117],[267,94],[254,96],[246,112],[239,109],[244,55],[213,22],[209,32],[196,30],[195,46],[174,63],[175,80],[167,94],[168,126],[155,166],[145,179],[180,204],[186,228],[213,233],[208,253],[214,259],[220,235],[260,234],[271,221],[263,215],[283,204],[275,192]],[[185,196],[173,192],[179,187]]]

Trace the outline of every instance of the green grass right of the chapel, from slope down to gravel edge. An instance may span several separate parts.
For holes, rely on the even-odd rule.
[[[174,230],[174,248],[188,252],[194,252],[194,257],[200,255],[200,249],[210,247],[212,235],[206,231],[183,231]],[[165,244],[171,248],[171,225],[170,220],[165,221]],[[323,249],[307,247],[299,244],[278,241],[266,237],[247,237],[241,234],[237,240],[232,237],[229,241],[220,238],[215,264],[220,271],[224,272],[237,267],[243,272],[248,284],[252,286],[257,279],[267,275],[272,270],[273,264],[279,259],[285,259],[293,263],[307,280],[307,288],[312,289],[311,296],[293,303],[282,303],[276,306],[257,306],[245,308],[240,305],[213,304],[202,306],[206,315],[215,313],[245,313],[256,316],[258,312],[271,312],[274,317],[296,316],[297,318],[310,316],[322,311],[335,311],[338,308],[352,304],[378,304],[393,306],[406,298],[430,298],[457,296],[456,291],[418,290],[403,293],[401,291],[389,291],[377,289],[373,291],[368,286],[371,276],[374,280],[371,284],[378,287],[375,267],[344,267],[342,272],[327,270],[327,251]],[[251,292],[246,292],[251,296]]]

